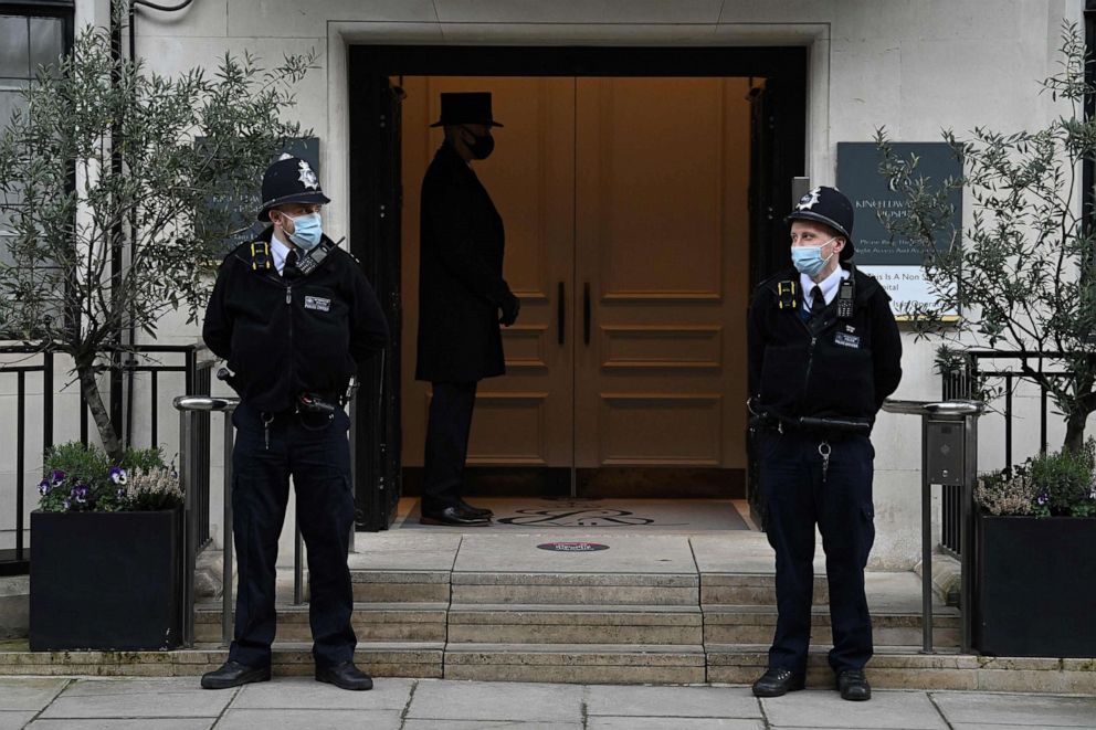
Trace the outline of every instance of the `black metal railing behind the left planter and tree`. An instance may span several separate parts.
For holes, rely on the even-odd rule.
[[[52,352],[42,351],[41,346],[17,345],[0,347],[0,356],[8,356],[11,362],[0,362],[0,393],[8,395],[0,400],[0,422],[14,423],[15,433],[12,440],[15,451],[15,473],[13,498],[10,504],[0,504],[0,514],[8,512],[14,507],[13,547],[0,549],[0,575],[25,574],[30,570],[29,536],[27,533],[27,453],[28,448],[33,448],[35,442],[40,448],[33,454],[41,455],[46,448],[57,441],[66,441],[70,436],[59,435],[63,424],[71,424],[74,421],[80,423],[78,438],[81,443],[88,441],[88,409],[83,394],[76,403],[66,403],[70,399],[60,398],[66,393],[75,393],[78,385],[75,382],[63,383],[63,388],[55,391],[55,371],[59,364],[68,362],[67,358]],[[14,356],[14,357],[11,357]],[[173,360],[175,362],[165,362]],[[119,436],[126,446],[157,446],[159,445],[160,420],[169,419],[166,423],[177,424],[175,412],[170,408],[170,396],[181,393],[209,394],[211,385],[211,371],[214,362],[209,350],[201,346],[171,346],[171,345],[139,345],[133,348],[133,352],[123,357],[112,358],[114,367],[112,370],[123,374],[123,388],[126,390],[127,401],[125,419],[119,417],[119,413],[113,413],[115,427],[119,431]],[[161,388],[165,385],[164,375],[176,373],[181,382],[173,382],[167,385],[168,393],[167,409],[161,408]],[[144,411],[145,417],[136,419],[135,422],[135,384],[143,378],[148,379],[148,408]],[[41,393],[32,393],[31,387],[35,381],[41,382]],[[115,382],[117,380],[115,379]],[[10,396],[13,396],[13,401]],[[145,399],[141,399],[143,401]],[[34,402],[36,401],[36,402]],[[14,413],[12,413],[12,406]],[[27,427],[27,416],[34,411],[40,411],[42,419],[41,438],[38,440]],[[78,410],[73,413],[73,410]],[[165,412],[166,411],[166,412]],[[175,426],[178,427],[178,426]],[[197,430],[194,438],[196,451],[189,457],[194,464],[196,474],[196,498],[201,507],[200,515],[204,518],[199,523],[198,538],[201,544],[209,542],[209,466],[210,466],[210,424],[209,414],[198,417],[194,422]],[[75,435],[75,434],[72,434]],[[12,443],[9,442],[9,443]],[[178,443],[172,440],[169,443]],[[167,451],[167,449],[166,449]],[[172,457],[170,451],[167,452],[169,458]],[[40,456],[39,456],[40,458]],[[35,468],[34,464],[30,465]],[[0,499],[8,502],[7,490],[0,493]]]

